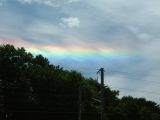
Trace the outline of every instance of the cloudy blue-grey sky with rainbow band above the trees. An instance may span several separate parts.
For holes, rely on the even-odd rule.
[[[159,0],[0,0],[0,44],[159,102]],[[99,77],[98,77],[99,78]]]

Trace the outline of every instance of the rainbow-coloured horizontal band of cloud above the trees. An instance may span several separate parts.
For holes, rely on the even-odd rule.
[[[42,45],[34,44],[20,38],[0,39],[0,44],[12,44],[16,47],[24,47],[27,52],[34,55],[42,54],[45,57],[59,57],[59,58],[76,58],[81,60],[88,59],[126,59],[128,57],[136,57],[141,54],[137,51],[128,51],[123,49],[112,48],[87,48],[83,46],[56,46],[56,45]]]

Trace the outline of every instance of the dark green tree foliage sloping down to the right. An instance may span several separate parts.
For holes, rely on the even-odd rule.
[[[24,48],[0,46],[0,120],[100,120],[100,84],[54,66]],[[123,97],[105,87],[108,120],[160,120],[160,107],[144,98]]]

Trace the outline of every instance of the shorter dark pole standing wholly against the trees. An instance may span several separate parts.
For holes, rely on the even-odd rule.
[[[78,120],[82,120],[82,85],[79,86],[79,114]]]

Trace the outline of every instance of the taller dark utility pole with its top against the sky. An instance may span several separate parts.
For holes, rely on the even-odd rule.
[[[101,74],[101,120],[104,120],[104,68],[99,69],[97,73]]]

